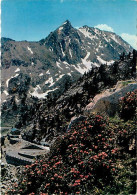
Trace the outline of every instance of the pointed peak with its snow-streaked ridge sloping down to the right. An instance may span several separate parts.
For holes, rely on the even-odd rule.
[[[69,21],[40,42],[53,51],[60,61],[78,65],[80,73],[84,72],[80,71],[82,64],[82,69],[86,71],[101,63],[111,64],[123,50],[126,53],[131,51],[131,47],[115,33],[88,26],[75,29]]]

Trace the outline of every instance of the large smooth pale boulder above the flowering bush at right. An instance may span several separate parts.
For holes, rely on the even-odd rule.
[[[129,84],[124,86],[128,82]],[[121,87],[119,87],[120,83]],[[100,113],[112,117],[118,112],[120,98],[135,89],[137,89],[137,83],[133,81],[118,82],[115,88],[96,95],[92,102],[86,106],[85,112]]]

